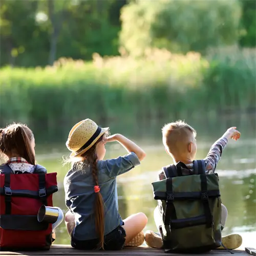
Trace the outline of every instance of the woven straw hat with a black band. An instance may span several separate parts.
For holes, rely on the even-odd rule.
[[[69,133],[66,146],[72,152],[70,157],[78,157],[87,152],[109,128],[99,127],[87,118],[75,124]]]

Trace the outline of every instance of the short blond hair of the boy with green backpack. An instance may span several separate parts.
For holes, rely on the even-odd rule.
[[[162,128],[163,144],[169,153],[176,154],[184,149],[184,145],[191,142],[197,135],[196,130],[182,120],[167,123]]]

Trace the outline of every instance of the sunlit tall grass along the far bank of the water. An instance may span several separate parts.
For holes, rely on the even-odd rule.
[[[177,55],[148,50],[92,62],[59,59],[53,67],[0,70],[0,122],[22,121],[51,131],[90,117],[148,120],[255,106],[256,50]],[[66,131],[65,131],[66,132]]]

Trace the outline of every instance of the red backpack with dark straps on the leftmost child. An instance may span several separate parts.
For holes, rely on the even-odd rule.
[[[41,205],[53,206],[56,173],[35,166],[34,174],[14,174],[0,166],[0,250],[42,249],[52,244],[52,224],[37,221]]]

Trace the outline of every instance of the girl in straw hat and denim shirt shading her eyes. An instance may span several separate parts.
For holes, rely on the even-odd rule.
[[[72,169],[64,179],[65,222],[71,245],[77,249],[119,250],[144,241],[147,218],[138,213],[122,220],[118,212],[116,177],[129,172],[144,159],[145,152],[120,134],[109,136],[90,119],[77,123],[66,143],[72,152]],[[103,160],[105,144],[118,141],[129,154]]]

